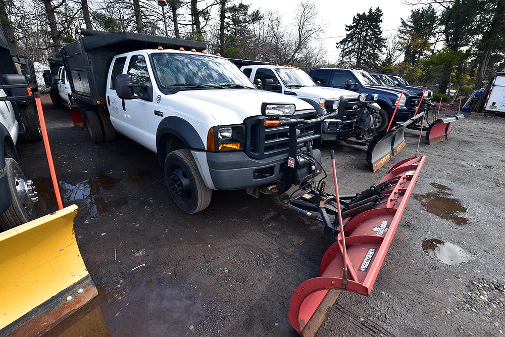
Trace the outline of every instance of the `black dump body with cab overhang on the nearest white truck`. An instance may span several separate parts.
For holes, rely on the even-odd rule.
[[[81,29],[81,37],[60,49],[72,96],[91,105],[105,104],[107,75],[114,56],[143,49],[207,49],[204,42],[128,32]]]

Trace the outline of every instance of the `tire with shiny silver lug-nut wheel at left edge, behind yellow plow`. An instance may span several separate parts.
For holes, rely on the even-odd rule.
[[[7,174],[12,197],[11,206],[0,214],[0,228],[8,230],[37,217],[34,205],[36,197],[31,181],[26,179],[23,170],[14,159],[6,158],[5,167],[1,172]]]

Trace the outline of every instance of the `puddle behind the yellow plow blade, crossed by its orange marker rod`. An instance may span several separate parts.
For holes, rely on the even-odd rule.
[[[98,174],[97,177],[81,181],[72,185],[64,180],[60,180],[60,189],[64,205],[82,200],[89,216],[97,216],[109,212],[114,208],[128,205],[126,198],[109,200],[101,196],[103,191],[111,190],[121,179],[113,178],[106,174]],[[33,183],[38,193],[39,201],[35,203],[35,209],[39,215],[47,214],[58,209],[55,189],[51,179],[34,179]]]

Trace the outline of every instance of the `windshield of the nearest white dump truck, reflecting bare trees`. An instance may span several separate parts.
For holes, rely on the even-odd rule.
[[[156,82],[162,91],[211,88],[256,89],[233,63],[223,58],[156,53],[151,54],[151,61]]]

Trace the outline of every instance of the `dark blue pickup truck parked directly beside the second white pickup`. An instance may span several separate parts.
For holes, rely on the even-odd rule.
[[[407,91],[400,99],[401,88],[381,85],[364,70],[320,68],[313,69],[309,75],[323,86],[355,90],[359,93],[379,94],[377,104],[381,107],[375,132],[384,130],[389,124],[396,103],[399,100],[395,121],[406,121],[414,115],[420,98],[417,92]]]

